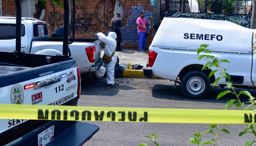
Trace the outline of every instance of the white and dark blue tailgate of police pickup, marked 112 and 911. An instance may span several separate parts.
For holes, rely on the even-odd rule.
[[[11,68],[11,67],[10,67]],[[18,68],[18,67],[16,67]],[[0,76],[1,104],[77,105],[78,73],[75,60],[27,68]],[[0,145],[20,138],[49,121],[0,119]]]

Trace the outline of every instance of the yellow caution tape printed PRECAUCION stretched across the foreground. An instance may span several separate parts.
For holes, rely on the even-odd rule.
[[[256,122],[256,112],[243,110],[0,104],[0,119],[248,124]]]

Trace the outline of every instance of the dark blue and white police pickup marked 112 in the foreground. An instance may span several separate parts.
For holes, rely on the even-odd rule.
[[[68,57],[68,31],[64,32],[63,55],[23,53],[20,0],[15,3],[16,51],[0,51],[0,104],[78,106],[81,76],[75,59]],[[68,0],[64,8],[69,12]],[[64,28],[68,17],[66,13]],[[37,31],[42,33],[42,27]],[[83,145],[98,130],[97,125],[76,121],[0,119],[0,146]]]

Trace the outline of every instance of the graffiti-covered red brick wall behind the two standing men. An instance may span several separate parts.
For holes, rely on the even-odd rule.
[[[117,5],[117,9],[113,5]],[[48,24],[49,34],[51,35],[58,27],[63,26],[64,9],[57,7],[51,0],[47,1],[45,21]],[[15,16],[15,2],[12,0],[2,0],[3,16]],[[138,33],[136,19],[140,12],[144,12],[148,24],[152,27],[153,6],[150,6],[150,0],[81,0],[76,3],[76,38],[95,38],[95,32],[108,34],[111,29],[109,26],[114,13],[121,14],[123,28],[122,49],[138,49]],[[72,24],[71,24],[72,25]],[[151,30],[146,41],[146,47],[149,47],[151,41]],[[103,44],[104,45],[104,44]]]

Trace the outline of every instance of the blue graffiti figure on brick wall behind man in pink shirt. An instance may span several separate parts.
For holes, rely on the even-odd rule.
[[[139,18],[140,12],[144,12],[144,18],[146,18],[148,25],[151,26],[151,22],[150,20],[148,20],[148,18],[152,18],[151,12],[144,11],[140,3],[139,7],[132,6],[132,10],[133,12],[131,16],[127,19],[127,25],[123,28],[120,28],[122,34],[122,45],[124,44],[124,42],[131,42],[135,44],[137,41],[139,41],[136,20],[137,18]],[[108,32],[106,33],[106,35],[108,34]],[[149,28],[147,28],[147,32],[149,32]]]

